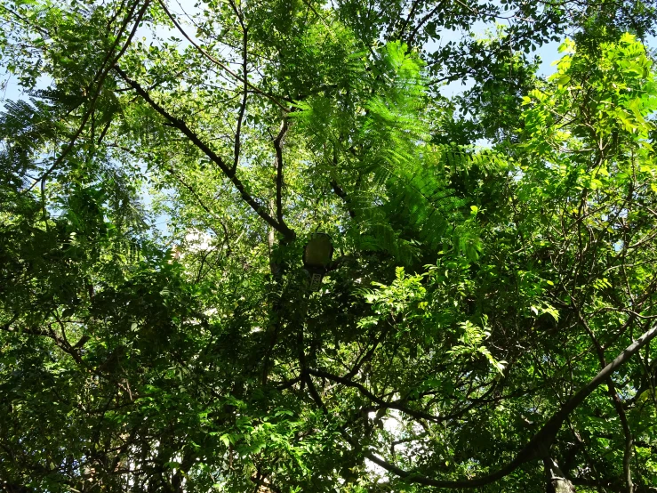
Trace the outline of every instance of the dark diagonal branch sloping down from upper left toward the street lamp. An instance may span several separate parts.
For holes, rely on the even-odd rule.
[[[156,103],[156,101],[153,101],[153,98],[150,97],[150,94],[148,94],[139,83],[128,77],[127,74],[118,66],[115,66],[114,69],[116,70],[116,73],[124,79],[125,83],[130,85],[132,89],[134,89],[134,91],[138,93],[141,98],[143,98],[144,101],[148,102],[148,104],[153,109],[155,109],[157,113],[166,118],[174,128],[180,130],[180,132],[183,133],[190,141],[192,141],[192,143],[194,143],[194,145],[196,145],[199,150],[203,151],[205,156],[210,158],[212,162],[220,168],[221,172],[226,175],[230,182],[233,183],[239,192],[240,197],[242,197],[244,202],[251,206],[253,211],[255,211],[255,213],[258,214],[260,218],[267,222],[269,226],[280,232],[284,238],[288,240],[293,240],[296,238],[296,233],[293,230],[288,228],[284,223],[276,222],[276,220],[267,213],[266,207],[262,206],[260,202],[258,202],[255,198],[252,197],[251,194],[249,194],[249,192],[246,191],[244,188],[244,183],[241,182],[239,178],[237,178],[236,171],[228,166],[226,162],[212,149],[210,149],[210,147],[208,147],[204,141],[201,141],[198,135],[196,135],[196,133],[194,133],[183,120],[177,117],[173,117],[171,113]]]

